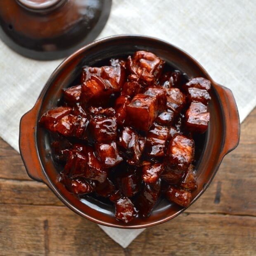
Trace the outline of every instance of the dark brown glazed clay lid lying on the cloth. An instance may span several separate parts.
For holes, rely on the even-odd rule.
[[[111,0],[1,0],[0,38],[25,57],[64,58],[100,34],[110,9]]]

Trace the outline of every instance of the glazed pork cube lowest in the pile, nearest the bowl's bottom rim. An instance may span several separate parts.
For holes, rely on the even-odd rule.
[[[128,197],[121,197],[115,204],[115,217],[118,220],[128,223],[137,215],[137,211]]]

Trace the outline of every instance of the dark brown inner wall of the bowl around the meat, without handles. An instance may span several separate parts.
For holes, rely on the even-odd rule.
[[[38,111],[37,120],[45,111],[57,106],[59,99],[62,97],[62,88],[76,84],[78,77],[81,75],[82,66],[94,66],[112,57],[132,55],[137,50],[153,52],[164,59],[170,66],[185,72],[188,78],[202,76],[211,80],[206,71],[194,59],[166,42],[142,36],[110,37],[82,48],[67,58],[55,70],[40,95],[43,99],[40,111]],[[218,94],[214,90],[213,81],[212,84],[212,100],[209,104],[211,121],[207,133],[203,136],[203,139],[198,141],[196,147],[196,151],[201,152],[201,156],[196,164],[198,187],[192,193],[192,202],[204,192],[216,173],[219,165],[219,154],[223,146],[224,124],[221,104]],[[112,205],[90,196],[78,199],[69,193],[62,183],[59,182],[58,166],[55,165],[52,159],[49,134],[37,125],[36,138],[38,155],[45,175],[49,180],[50,188],[67,206],[90,220],[118,228],[144,228],[174,218],[184,210],[182,207],[172,204],[166,199],[160,199],[149,218],[136,218],[131,223],[123,224],[114,218],[114,207]]]

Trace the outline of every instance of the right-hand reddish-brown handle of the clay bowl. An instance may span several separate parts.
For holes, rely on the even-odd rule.
[[[223,85],[217,84],[215,89],[218,92],[223,106],[223,116],[225,122],[225,142],[222,149],[222,157],[234,150],[239,144],[240,121],[237,104],[232,91]]]

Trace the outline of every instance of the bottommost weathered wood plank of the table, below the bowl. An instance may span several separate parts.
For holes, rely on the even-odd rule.
[[[43,213],[43,214],[42,214]],[[255,255],[255,217],[182,214],[122,249],[89,220],[58,206],[0,207],[2,255]]]

